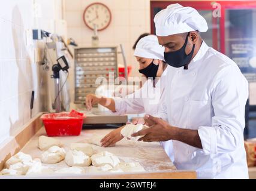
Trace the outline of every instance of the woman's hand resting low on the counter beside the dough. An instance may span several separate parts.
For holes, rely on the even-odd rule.
[[[124,138],[124,136],[121,134],[122,128],[124,128],[124,126],[111,131],[109,134],[103,137],[103,139],[101,139],[101,146],[102,147],[113,146],[113,144],[122,140],[122,138]]]

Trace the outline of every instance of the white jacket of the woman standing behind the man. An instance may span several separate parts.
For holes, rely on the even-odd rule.
[[[116,115],[146,113],[152,116],[158,116],[159,100],[162,100],[162,95],[165,91],[164,80],[167,68],[162,73],[161,78],[158,78],[155,87],[153,87],[153,81],[148,79],[139,90],[125,96],[125,98],[113,97],[116,107],[116,112],[113,113]],[[171,161],[174,162],[172,140],[161,141],[160,144],[164,147]]]

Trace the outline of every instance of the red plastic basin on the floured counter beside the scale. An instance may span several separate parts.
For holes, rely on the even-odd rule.
[[[41,116],[49,137],[80,135],[85,118],[85,113],[79,113],[76,110],[70,113],[47,113]]]

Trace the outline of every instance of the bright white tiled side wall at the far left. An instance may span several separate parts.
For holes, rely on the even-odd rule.
[[[44,109],[44,71],[34,61],[37,43],[26,44],[26,29],[54,32],[53,20],[62,17],[61,4],[62,0],[0,0],[0,144],[29,121],[32,90],[32,116]]]

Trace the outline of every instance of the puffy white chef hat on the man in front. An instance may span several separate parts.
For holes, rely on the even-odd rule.
[[[192,7],[171,4],[154,18],[156,35],[168,36],[198,30],[206,32],[206,20]]]

